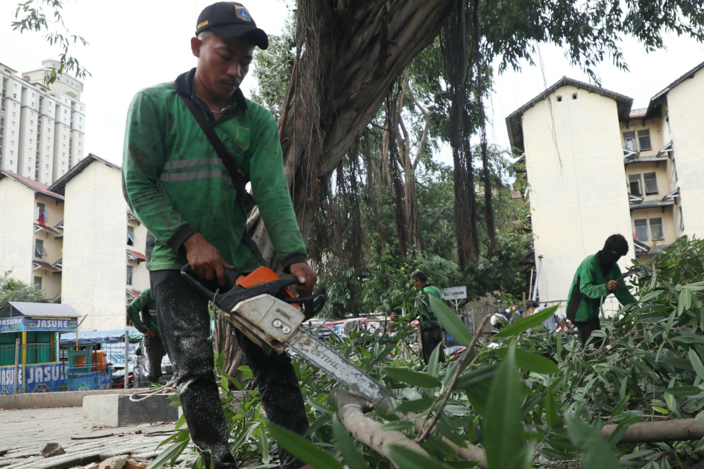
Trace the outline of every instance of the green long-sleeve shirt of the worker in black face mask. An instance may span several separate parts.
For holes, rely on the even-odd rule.
[[[621,269],[617,264],[613,264],[608,275],[604,276],[596,261],[596,256],[586,257],[582,264],[579,264],[577,272],[574,274],[570,292],[567,294],[567,319],[572,321],[589,321],[599,315],[599,309],[610,291],[606,285],[610,280],[617,280],[621,276]],[[635,303],[636,299],[631,295],[625,282],[614,295],[621,304]]]

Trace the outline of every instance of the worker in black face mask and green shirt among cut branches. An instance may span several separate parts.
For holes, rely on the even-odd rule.
[[[623,305],[636,302],[626,285],[617,281],[621,269],[616,262],[627,252],[626,238],[620,234],[611,235],[604,248],[584,259],[574,274],[570,293],[567,294],[567,319],[579,329],[579,339],[584,345],[589,342],[595,348],[601,347],[602,338],[591,338],[591,333],[601,330],[599,309],[605,297],[613,293]]]

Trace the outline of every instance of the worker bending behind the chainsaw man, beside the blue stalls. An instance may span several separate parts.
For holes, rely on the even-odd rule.
[[[144,288],[142,293],[127,306],[127,317],[134,327],[144,334],[146,359],[149,361],[149,383],[158,383],[161,378],[161,361],[166,355],[166,349],[159,334],[156,302],[151,297],[151,288]]]

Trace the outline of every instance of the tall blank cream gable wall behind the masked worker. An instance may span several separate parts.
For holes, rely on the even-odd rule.
[[[523,115],[536,257],[544,253],[541,301],[565,300],[584,257],[608,236],[631,233],[615,101],[573,86],[550,98],[552,113],[543,100]]]

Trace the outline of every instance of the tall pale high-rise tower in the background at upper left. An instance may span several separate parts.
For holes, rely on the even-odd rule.
[[[56,67],[42,60],[20,78],[0,63],[0,168],[47,185],[85,155],[83,82],[61,74],[47,88],[44,76]]]

